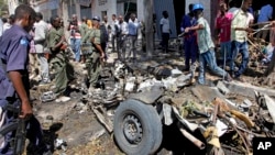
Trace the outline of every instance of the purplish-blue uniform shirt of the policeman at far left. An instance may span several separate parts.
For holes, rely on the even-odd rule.
[[[1,36],[0,60],[7,67],[4,70],[0,66],[0,100],[4,100],[7,97],[14,97],[15,95],[15,89],[7,76],[9,71],[19,70],[22,74],[22,80],[29,93],[28,65],[31,38],[31,35],[19,25],[13,25]]]

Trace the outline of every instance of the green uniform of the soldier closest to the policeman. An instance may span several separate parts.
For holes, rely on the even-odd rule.
[[[55,51],[52,48],[62,40],[64,36],[64,30],[52,27],[48,32],[48,48],[52,52],[51,65],[53,66],[55,73],[55,89],[54,92],[59,96],[63,95],[67,88],[68,81],[74,78],[74,68],[69,64],[68,58],[65,56],[64,51],[58,47]]]

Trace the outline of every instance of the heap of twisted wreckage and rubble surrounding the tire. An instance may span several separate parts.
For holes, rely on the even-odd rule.
[[[72,88],[79,95],[74,103],[61,111],[74,110],[80,115],[92,112],[102,125],[87,139],[92,144],[98,143],[94,146],[99,146],[100,139],[109,136],[107,132],[113,132],[116,109],[128,99],[153,104],[154,108],[161,106],[162,110],[157,112],[164,125],[177,122],[178,130],[189,143],[208,154],[251,154],[253,137],[275,136],[273,89],[220,79],[212,80],[211,86],[200,86],[194,81],[196,66],[190,73],[183,73],[180,66],[175,67],[173,62],[161,62],[133,65],[116,60],[111,65],[107,64],[100,76],[101,91],[87,97],[81,77]],[[51,101],[44,100],[43,106]],[[43,119],[50,113],[50,109],[40,112]],[[53,114],[52,120],[67,114]],[[193,134],[196,130],[201,132],[204,141]],[[70,147],[70,141],[66,142]],[[108,148],[99,148],[108,153]]]

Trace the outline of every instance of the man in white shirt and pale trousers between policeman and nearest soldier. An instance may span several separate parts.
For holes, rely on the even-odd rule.
[[[41,75],[41,82],[40,85],[44,85],[50,82],[48,76],[48,63],[47,58],[45,57],[44,47],[46,46],[46,33],[47,33],[47,23],[43,21],[42,13],[36,13],[36,23],[34,24],[34,45],[35,51],[37,54],[37,58],[40,62],[40,75]]]

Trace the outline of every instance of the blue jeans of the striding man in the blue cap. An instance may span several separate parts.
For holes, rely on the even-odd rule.
[[[206,53],[202,53],[199,55],[199,79],[198,79],[198,82],[204,85],[205,84],[205,78],[206,78],[206,65],[209,66],[210,70],[222,77],[222,76],[227,76],[227,71],[224,71],[222,68],[220,68],[218,65],[217,65],[217,62],[216,62],[216,56],[215,56],[215,52],[212,49],[209,49],[208,52]]]

